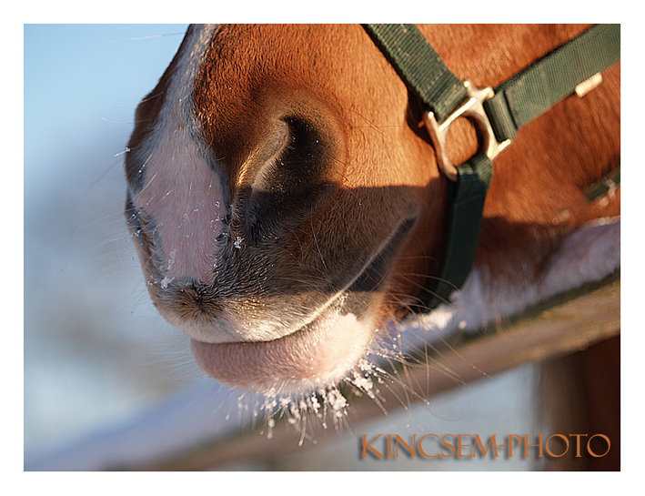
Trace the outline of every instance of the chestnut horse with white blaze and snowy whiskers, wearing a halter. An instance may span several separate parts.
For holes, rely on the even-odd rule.
[[[419,25],[498,87],[588,25]],[[620,62],[493,160],[472,267],[424,313],[449,238],[427,108],[360,25],[191,25],[136,108],[126,219],[150,297],[197,365],[260,393],[366,369],[405,319],[479,329],[620,268]],[[458,118],[448,159],[480,149]],[[428,323],[428,325],[430,325]],[[396,326],[395,326],[396,327]],[[362,372],[361,372],[362,373]]]

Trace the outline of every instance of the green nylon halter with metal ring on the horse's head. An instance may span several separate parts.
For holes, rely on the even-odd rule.
[[[492,160],[520,127],[573,93],[600,84],[600,72],[620,60],[620,25],[594,25],[492,88],[461,81],[445,66],[415,25],[364,25],[427,109],[424,121],[448,181],[448,241],[438,277],[418,298],[427,310],[448,301],[469,274],[479,241]],[[448,129],[459,116],[471,119],[482,140],[479,153],[455,167],[448,158]]]

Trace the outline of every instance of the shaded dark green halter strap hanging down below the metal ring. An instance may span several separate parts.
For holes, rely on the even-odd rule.
[[[457,167],[457,182],[448,181],[448,231],[438,277],[421,295],[419,303],[434,309],[447,303],[469,275],[479,242],[484,201],[493,177],[493,164],[485,153]]]

